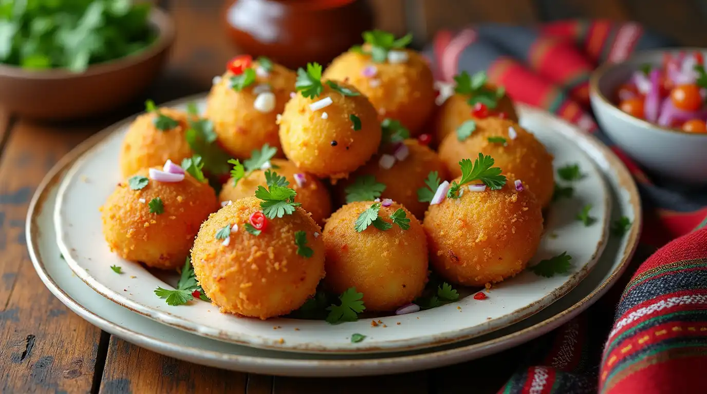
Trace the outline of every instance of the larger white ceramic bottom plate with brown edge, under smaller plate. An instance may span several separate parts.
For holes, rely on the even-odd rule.
[[[527,114],[527,110],[522,113]],[[548,117],[547,121],[569,127],[563,121],[551,117]],[[623,273],[627,261],[631,258],[641,228],[640,200],[629,172],[606,147],[590,139],[587,141],[588,148],[602,154],[596,158],[600,160],[600,169],[607,177],[607,183],[612,190],[612,217],[625,215],[631,218],[633,227],[624,237],[610,238],[595,269],[558,302],[520,323],[455,345],[438,347],[433,352],[386,353],[371,357],[259,350],[209,340],[170,328],[124,309],[103,297],[97,297],[93,289],[76,277],[59,257],[53,226],[57,185],[66,167],[76,160],[80,153],[102,140],[107,132],[110,130],[90,138],[64,157],[47,175],[30,203],[26,236],[37,274],[66,306],[103,330],[160,354],[224,369],[284,376],[395,374],[464,362],[505,350],[560,326],[607,292]]]

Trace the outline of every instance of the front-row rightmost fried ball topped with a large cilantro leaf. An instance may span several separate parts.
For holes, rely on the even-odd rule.
[[[423,222],[433,270],[466,286],[501,282],[524,270],[540,244],[542,225],[535,196],[512,183],[445,198],[430,205]]]

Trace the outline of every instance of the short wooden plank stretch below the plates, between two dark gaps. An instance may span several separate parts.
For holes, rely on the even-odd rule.
[[[245,393],[247,374],[211,368],[110,338],[100,393]]]

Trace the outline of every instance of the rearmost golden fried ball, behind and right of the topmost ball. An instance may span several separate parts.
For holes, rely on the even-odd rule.
[[[400,50],[407,54],[402,63],[373,63],[367,54],[344,52],[329,64],[324,78],[347,80],[368,97],[381,120],[397,119],[417,136],[435,108],[434,78],[418,52]]]

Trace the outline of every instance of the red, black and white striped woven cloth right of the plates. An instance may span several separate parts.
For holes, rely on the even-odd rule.
[[[707,371],[707,228],[700,229],[707,189],[646,174],[602,133],[589,109],[588,80],[597,64],[672,44],[636,23],[568,20],[443,30],[426,51],[438,80],[484,70],[513,100],[592,133],[624,161],[641,192],[641,246],[617,285],[626,286],[623,294],[609,292],[525,345],[530,356],[499,393],[707,393],[698,373]],[[645,251],[655,253],[643,261]]]

